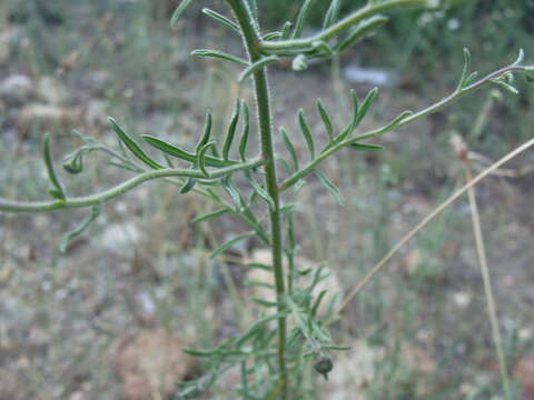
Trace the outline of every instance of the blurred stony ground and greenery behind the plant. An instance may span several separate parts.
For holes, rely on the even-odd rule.
[[[294,14],[299,3],[258,0],[269,26]],[[247,88],[234,83],[234,67],[188,56],[210,43],[228,50],[240,43],[195,10],[170,30],[175,6],[148,0],[0,3],[2,197],[36,199],[42,192],[46,180],[34,171],[42,170],[38,147],[44,132],[53,134],[60,157],[78,144],[69,134],[73,128],[115,140],[106,124],[112,114],[135,134],[158,134],[187,146],[198,137],[206,108],[227,121],[233,106],[228,93],[250,98]],[[358,6],[344,4],[347,10]],[[356,66],[388,77],[366,128],[402,109],[419,109],[454,88],[463,47],[472,50],[481,72],[508,63],[518,48],[532,57],[533,12],[532,0],[458,0],[442,11],[396,12],[392,23],[337,66],[314,66],[298,76],[274,69],[273,91],[283,99],[275,108],[277,124],[295,132],[296,109],[310,111],[317,97],[336,103],[334,113],[346,120],[349,89],[363,94],[372,87],[347,79]],[[475,94],[409,131],[399,130],[385,138],[387,151],[380,154],[344,153],[329,161],[326,168],[346,204],[339,207],[313,180],[301,189],[303,257],[327,260],[342,290],[354,287],[396,239],[463,181],[462,163],[448,144],[453,131],[481,154],[478,169],[485,159],[533,136],[533,91],[523,87],[506,102],[497,92]],[[75,192],[86,193],[125,176],[108,168],[103,172],[103,160],[95,156],[87,163],[86,181],[66,181]],[[508,176],[478,187],[506,356],[520,399],[534,398],[534,373],[524,372],[534,363],[534,181],[532,173],[518,173],[520,164],[532,163],[531,152]],[[0,399],[128,398],[134,396],[128,394],[131,381],[157,398],[154,391],[166,392],[167,383],[158,381],[155,388],[150,380],[125,372],[137,362],[121,351],[128,343],[170,352],[168,340],[178,340],[177,348],[209,344],[245,326],[249,317],[243,301],[249,288],[241,263],[259,257],[260,249],[249,242],[226,259],[209,261],[210,249],[244,227],[231,218],[221,227],[191,224],[207,207],[201,199],[176,196],[164,183],[140,188],[107,206],[90,234],[61,257],[57,241],[82,213],[0,214]],[[498,373],[482,293],[468,208],[459,202],[353,301],[335,334],[354,350],[339,356],[330,382],[318,384],[318,398],[495,397]],[[191,363],[187,371],[174,372],[186,379],[201,368]],[[231,379],[218,388],[220,398],[231,398],[224,394],[231,391]]]

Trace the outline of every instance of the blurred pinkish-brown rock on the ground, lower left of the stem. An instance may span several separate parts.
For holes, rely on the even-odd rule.
[[[116,366],[125,400],[166,398],[177,382],[198,369],[196,359],[181,351],[187,342],[161,329],[123,337],[119,342]]]

